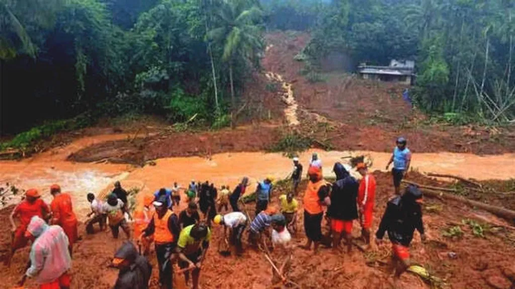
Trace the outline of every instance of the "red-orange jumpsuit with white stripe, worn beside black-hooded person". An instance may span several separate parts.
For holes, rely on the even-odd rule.
[[[357,194],[357,206],[361,213],[361,226],[364,229],[372,227],[372,213],[375,202],[375,178],[371,174],[366,174],[359,183]]]

